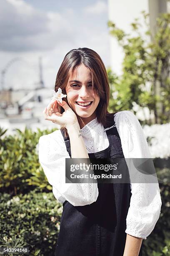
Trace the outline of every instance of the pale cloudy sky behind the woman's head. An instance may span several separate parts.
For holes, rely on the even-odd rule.
[[[110,66],[107,0],[1,0],[0,71],[4,89],[35,88],[39,58],[53,89],[68,51],[91,48]]]

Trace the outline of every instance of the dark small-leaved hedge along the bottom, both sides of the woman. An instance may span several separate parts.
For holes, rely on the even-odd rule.
[[[144,256],[170,255],[168,182],[162,184],[160,190],[163,202],[161,215],[153,232],[143,241]],[[14,197],[0,193],[0,245],[28,246],[29,255],[53,255],[62,205],[51,192],[37,191]]]

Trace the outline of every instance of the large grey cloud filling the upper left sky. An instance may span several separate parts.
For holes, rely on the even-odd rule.
[[[37,10],[23,0],[2,0],[0,31],[0,50],[15,52],[55,48],[72,29],[60,13]]]

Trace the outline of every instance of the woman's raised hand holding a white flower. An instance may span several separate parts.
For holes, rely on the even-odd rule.
[[[58,104],[65,110],[62,114],[59,113]],[[62,103],[58,100],[50,101],[43,111],[43,115],[45,120],[50,120],[52,123],[57,123],[65,128],[78,124],[77,116],[64,100],[62,100]]]

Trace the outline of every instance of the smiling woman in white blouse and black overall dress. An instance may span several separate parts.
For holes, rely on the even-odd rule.
[[[66,158],[151,158],[138,119],[107,112],[110,90],[100,56],[88,48],[68,52],[57,73],[45,120],[61,129],[41,136],[39,159],[56,199],[63,203],[57,256],[138,256],[160,215],[158,182],[65,183]]]

